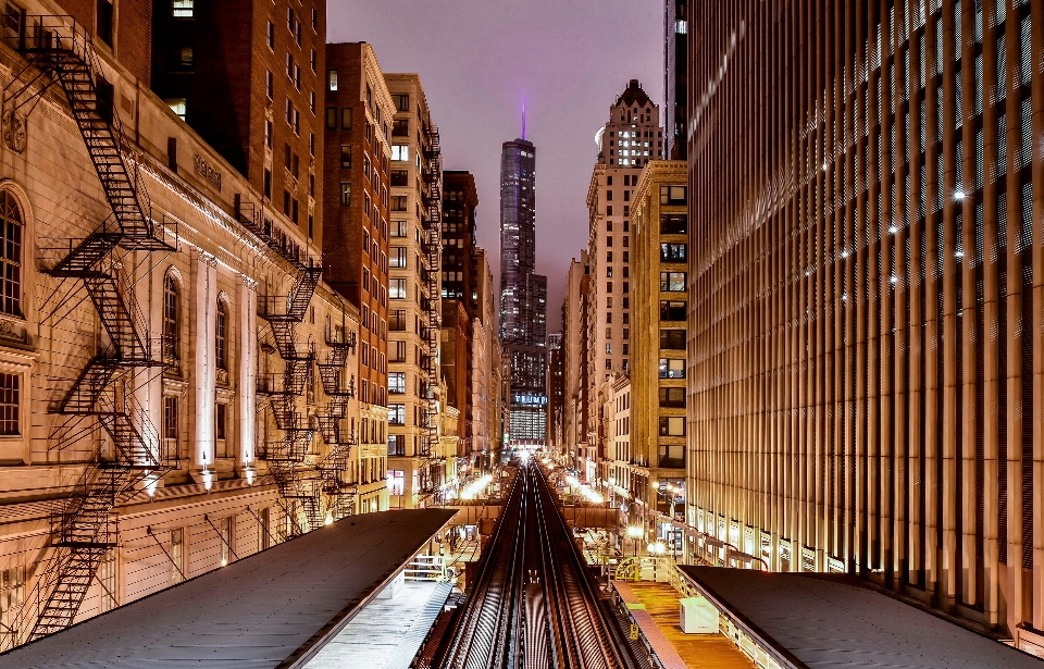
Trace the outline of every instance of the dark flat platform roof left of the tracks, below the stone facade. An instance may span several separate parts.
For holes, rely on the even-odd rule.
[[[302,667],[451,509],[349,516],[0,655],[0,669]]]

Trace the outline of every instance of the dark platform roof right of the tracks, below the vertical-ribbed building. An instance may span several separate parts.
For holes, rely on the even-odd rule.
[[[681,567],[780,667],[1044,669],[1040,659],[906,604],[857,579]]]

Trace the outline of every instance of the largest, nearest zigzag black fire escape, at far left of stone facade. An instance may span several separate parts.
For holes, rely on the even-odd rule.
[[[162,346],[149,336],[148,320],[127,285],[123,261],[130,251],[175,250],[177,231],[152,219],[148,193],[137,162],[128,157],[130,147],[112,104],[112,86],[104,80],[86,30],[71,16],[23,12],[17,34],[9,27],[4,38],[26,61],[7,87],[9,109],[32,113],[57,84],[112,208],[112,215],[96,232],[85,239],[66,240],[58,261],[45,262],[44,272],[50,276],[83,281],[108,339],[55,402],[53,412],[69,417],[66,422],[100,426],[109,443],[102,439],[94,461],[57,505],[51,518],[52,552],[16,616],[14,634],[8,636],[11,645],[18,645],[73,622],[101,560],[116,545],[113,508],[139,486],[153,486],[175,464],[169,456],[176,454],[161,451],[159,432],[135,397],[147,383],[136,387],[138,372],[162,367]],[[135,269],[145,267],[141,262]],[[58,300],[55,311],[74,294]],[[82,434],[89,436],[96,429]]]

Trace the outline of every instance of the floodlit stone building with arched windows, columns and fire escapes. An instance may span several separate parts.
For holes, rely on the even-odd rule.
[[[149,14],[63,4],[8,3],[0,44],[2,648],[381,494],[346,448],[358,309],[151,90]]]

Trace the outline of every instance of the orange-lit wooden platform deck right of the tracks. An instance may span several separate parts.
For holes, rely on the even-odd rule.
[[[722,634],[685,634],[679,625],[678,591],[668,583],[626,584],[689,669],[751,669],[754,662]],[[633,605],[632,605],[633,606]]]

